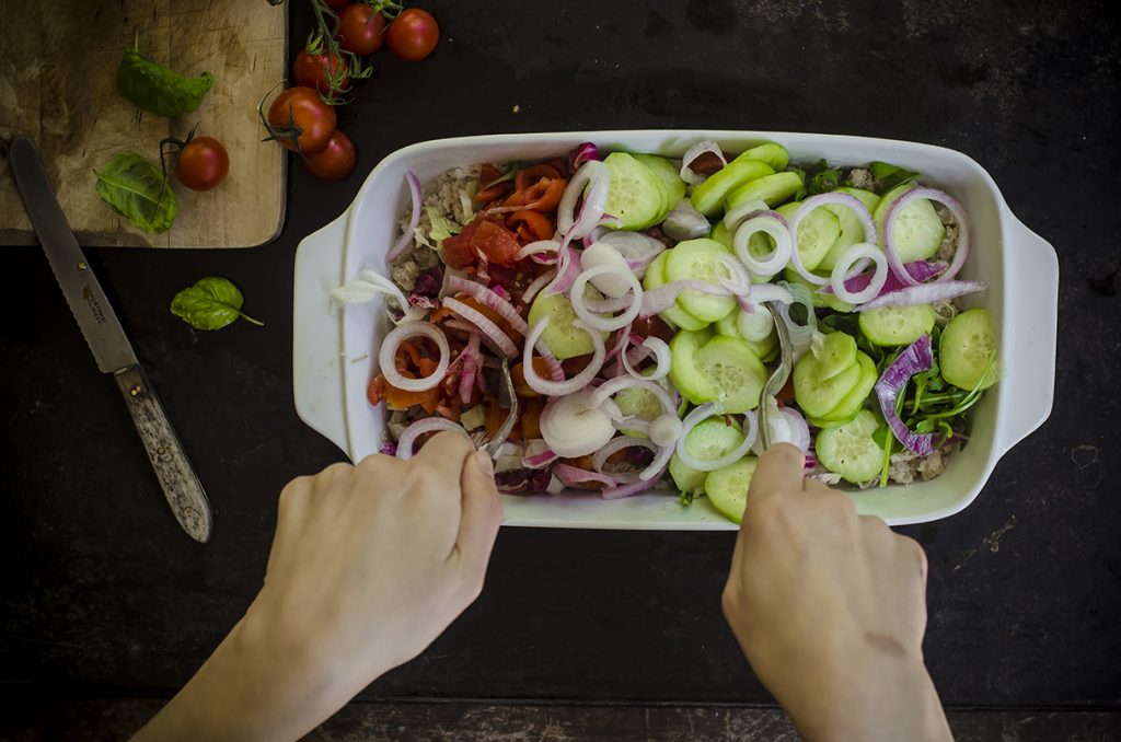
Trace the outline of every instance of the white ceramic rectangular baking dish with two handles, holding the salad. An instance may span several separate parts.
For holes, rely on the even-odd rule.
[[[376,372],[379,342],[389,327],[385,305],[355,305],[332,313],[327,291],[362,268],[386,271],[385,254],[398,234],[408,202],[405,174],[428,182],[447,168],[564,155],[583,141],[601,150],[679,157],[698,139],[715,139],[735,154],[760,140],[790,150],[791,161],[859,165],[884,160],[923,174],[924,183],[955,195],[971,220],[973,249],[961,277],[989,281],[967,298],[984,305],[997,323],[1007,375],[976,406],[973,434],[946,472],[930,482],[851,493],[862,513],[888,523],[945,518],[981,492],[1000,457],[1050,414],[1055,382],[1058,262],[1050,244],[1008,208],[997,184],[961,152],[904,141],[767,131],[593,131],[493,135],[426,141],[399,149],[367,177],[354,202],[333,222],[308,235],[296,253],[296,410],[352,461],[376,453],[385,411],[365,399]],[[682,507],[676,497],[647,494],[605,502],[595,494],[504,495],[504,523],[567,528],[732,529],[735,526],[700,499]]]

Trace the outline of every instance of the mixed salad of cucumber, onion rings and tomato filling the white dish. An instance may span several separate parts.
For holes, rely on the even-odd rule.
[[[967,215],[895,165],[585,143],[406,180],[389,276],[332,291],[389,295],[385,453],[452,429],[506,492],[707,497],[739,521],[763,439],[828,483],[933,479],[1000,375],[989,312],[958,304],[985,288],[957,278]]]

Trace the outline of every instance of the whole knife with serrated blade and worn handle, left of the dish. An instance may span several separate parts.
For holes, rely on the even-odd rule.
[[[31,225],[98,368],[113,374],[175,518],[188,536],[205,544],[213,525],[206,492],[101,284],[85,262],[35,145],[16,139],[9,159]]]

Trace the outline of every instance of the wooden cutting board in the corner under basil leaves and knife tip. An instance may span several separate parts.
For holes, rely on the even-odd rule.
[[[287,8],[266,0],[21,0],[0,21],[0,138],[39,147],[81,244],[244,248],[284,223],[285,157],[261,142],[258,100],[285,77]],[[197,111],[166,119],[117,90],[117,66],[140,31],[140,53],[184,75],[210,71]],[[147,234],[99,198],[94,168],[137,151],[156,160],[160,139],[215,137],[230,154],[225,180],[207,193],[175,184],[179,214]],[[7,158],[0,158],[0,244],[34,243]]]

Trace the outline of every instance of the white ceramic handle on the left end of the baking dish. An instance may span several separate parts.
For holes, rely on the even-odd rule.
[[[342,284],[349,212],[304,238],[296,249],[293,286],[293,392],[296,414],[344,452],[346,400],[343,388],[342,313],[327,293]]]

